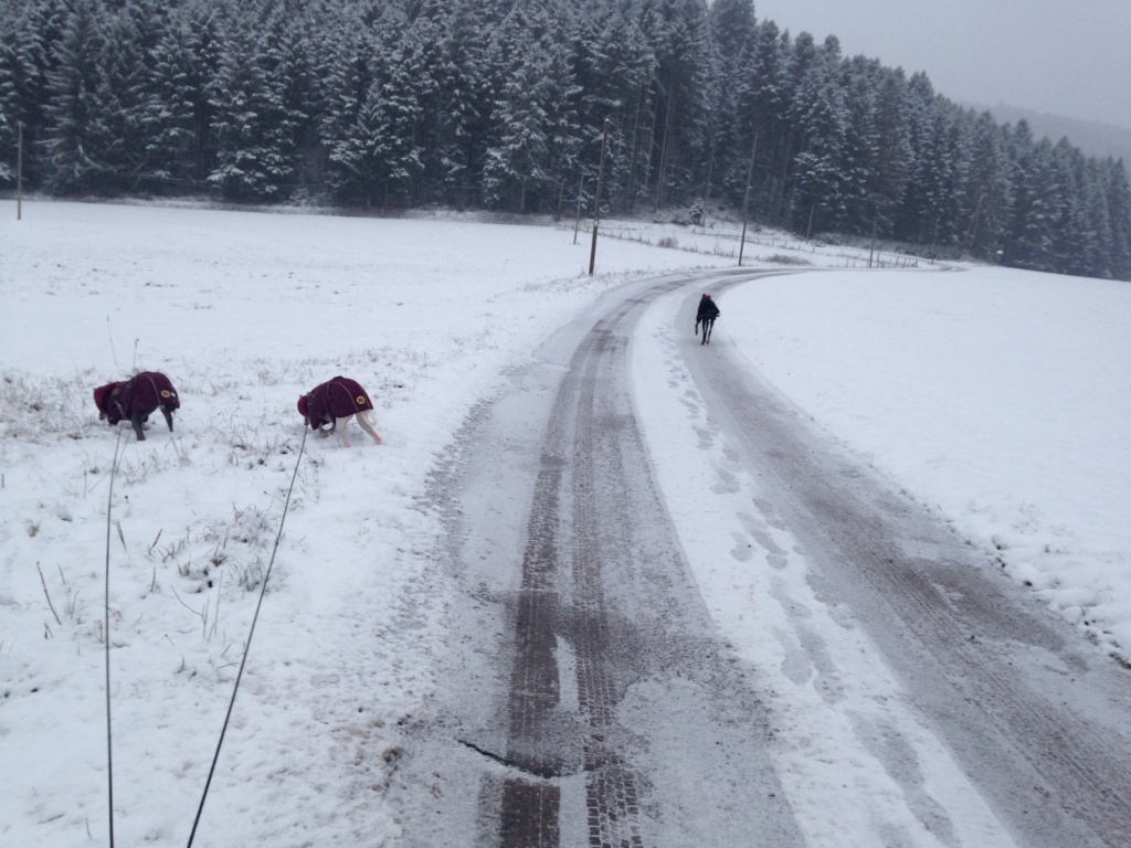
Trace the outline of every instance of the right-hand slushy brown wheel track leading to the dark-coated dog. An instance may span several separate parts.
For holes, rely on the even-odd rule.
[[[1031,848],[1131,832],[1131,681],[988,557],[814,434],[725,345],[688,357],[742,464],[969,779]]]

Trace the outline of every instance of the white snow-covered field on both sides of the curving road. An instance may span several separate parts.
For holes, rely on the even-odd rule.
[[[590,277],[566,225],[0,201],[0,843],[105,843],[107,577],[115,836],[185,842],[268,566],[196,843],[399,842],[383,790],[448,615],[429,471],[598,294],[735,263],[722,225],[608,231]],[[717,341],[1126,661],[1131,286],[866,258],[757,235],[744,265],[834,270],[733,289]],[[674,309],[642,352],[690,332]],[[182,409],[119,442],[90,393],[138,370]],[[303,441],[336,374],[381,447]]]

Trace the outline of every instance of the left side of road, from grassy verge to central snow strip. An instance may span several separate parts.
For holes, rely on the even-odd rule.
[[[631,334],[688,285],[601,298],[460,434],[434,494],[448,685],[408,732],[406,845],[802,845],[754,675],[688,572],[634,419]]]

